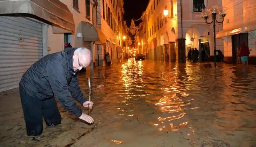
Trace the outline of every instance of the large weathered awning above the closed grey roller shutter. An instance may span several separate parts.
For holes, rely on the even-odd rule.
[[[0,0],[0,14],[33,15],[46,20],[48,24],[68,30],[68,32],[75,31],[72,13],[59,0]],[[60,30],[55,28],[54,32],[60,32]],[[63,30],[61,31],[63,32]]]

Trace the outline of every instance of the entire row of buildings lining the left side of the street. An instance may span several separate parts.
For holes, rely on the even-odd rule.
[[[63,51],[64,43],[89,48],[91,69],[104,64],[105,52],[120,58],[123,1],[105,1],[0,0],[0,92],[17,88],[34,62]]]

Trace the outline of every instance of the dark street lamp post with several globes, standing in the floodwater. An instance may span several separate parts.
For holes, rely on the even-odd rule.
[[[217,15],[220,15],[222,18],[222,21],[217,20]],[[212,16],[212,21],[208,22],[209,16]],[[214,33],[214,67],[216,68],[217,63],[216,63],[216,23],[222,23],[224,21],[224,18],[226,16],[226,9],[223,8],[218,8],[217,6],[213,6],[212,9],[204,9],[202,11],[202,17],[205,20],[205,23],[207,24],[212,24],[213,23],[213,33]]]

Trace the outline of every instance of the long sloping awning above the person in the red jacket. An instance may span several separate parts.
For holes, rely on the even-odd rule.
[[[237,25],[235,27],[222,30],[216,34],[216,38],[231,36],[239,33],[246,33],[249,31],[256,30],[256,22],[249,22],[242,25]]]

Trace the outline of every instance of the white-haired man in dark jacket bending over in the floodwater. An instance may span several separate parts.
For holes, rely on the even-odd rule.
[[[70,49],[44,56],[34,63],[20,80],[20,99],[28,136],[43,132],[43,117],[47,126],[61,123],[54,95],[65,109],[80,119],[92,123],[91,116],[82,113],[73,98],[84,107],[92,108],[78,85],[77,71],[91,62],[87,48]]]

